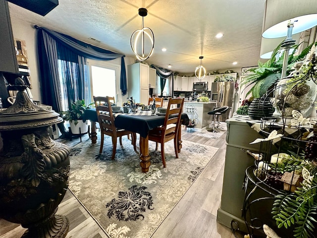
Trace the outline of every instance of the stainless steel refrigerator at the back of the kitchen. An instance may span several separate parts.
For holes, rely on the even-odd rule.
[[[232,108],[233,94],[235,82],[214,82],[211,83],[211,100],[216,100],[220,106],[228,106]],[[221,121],[232,116],[232,110],[228,110],[221,117]]]

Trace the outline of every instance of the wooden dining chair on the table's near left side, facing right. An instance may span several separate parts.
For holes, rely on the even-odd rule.
[[[117,137],[119,137],[120,145],[122,146],[122,138],[121,137],[123,135],[131,134],[131,137],[132,137],[131,144],[133,145],[134,151],[137,152],[136,133],[128,131],[128,130],[116,128],[114,125],[114,117],[112,114],[112,108],[111,108],[111,106],[110,107],[108,106],[108,105],[111,105],[110,104],[110,97],[95,97],[94,96],[94,101],[95,101],[96,112],[97,112],[98,122],[100,124],[100,131],[101,131],[101,143],[100,143],[99,154],[101,154],[103,152],[104,135],[111,136],[111,138],[112,138],[113,148],[112,148],[111,160],[113,160],[114,156],[115,156],[115,151],[116,151],[116,146],[117,146]]]

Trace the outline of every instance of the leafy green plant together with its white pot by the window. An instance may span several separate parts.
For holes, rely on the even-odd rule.
[[[69,121],[72,134],[83,134],[88,131],[87,121],[82,120],[86,108],[89,107],[86,107],[83,99],[72,102],[68,111],[60,112],[62,118]]]

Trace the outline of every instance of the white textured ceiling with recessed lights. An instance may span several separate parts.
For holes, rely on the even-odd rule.
[[[154,54],[146,62],[193,73],[200,56],[207,72],[257,65],[264,1],[59,0],[44,17],[10,2],[9,10],[11,17],[135,58],[130,37],[142,28],[138,9],[145,7],[144,25],[155,35]],[[219,32],[221,39],[215,38]]]

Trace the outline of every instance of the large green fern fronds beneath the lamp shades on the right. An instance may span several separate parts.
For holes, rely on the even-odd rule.
[[[281,54],[280,57],[277,57],[280,48],[280,43],[273,51],[272,56],[269,60],[262,63],[260,60],[258,62],[257,68],[251,68],[248,70],[248,72],[251,72],[250,74],[246,75],[243,80],[240,82],[240,86],[245,85],[245,87],[248,87],[250,85],[253,85],[252,88],[248,91],[246,94],[246,97],[250,94],[254,98],[261,98],[264,96],[269,89],[271,89],[276,82],[278,82],[281,79],[281,72],[283,67],[283,59],[284,59],[284,52]],[[305,48],[301,54],[295,56],[295,52],[298,49],[299,45],[294,45],[292,49],[294,49],[293,53],[289,55],[288,57],[288,63],[287,63],[287,74],[292,69],[294,63],[297,61],[303,60],[306,55],[309,53],[310,49],[315,43],[309,45],[307,48]]]

